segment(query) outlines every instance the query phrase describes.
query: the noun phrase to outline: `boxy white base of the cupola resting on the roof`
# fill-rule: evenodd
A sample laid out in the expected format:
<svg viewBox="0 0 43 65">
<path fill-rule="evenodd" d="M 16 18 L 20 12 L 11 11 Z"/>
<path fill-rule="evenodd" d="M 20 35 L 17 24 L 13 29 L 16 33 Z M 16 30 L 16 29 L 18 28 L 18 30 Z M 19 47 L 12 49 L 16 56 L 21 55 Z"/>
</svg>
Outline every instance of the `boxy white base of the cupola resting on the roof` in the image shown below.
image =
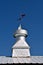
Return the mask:
<svg viewBox="0 0 43 65">
<path fill-rule="evenodd" d="M 28 57 L 30 56 L 29 49 L 13 49 L 12 57 Z"/>
</svg>

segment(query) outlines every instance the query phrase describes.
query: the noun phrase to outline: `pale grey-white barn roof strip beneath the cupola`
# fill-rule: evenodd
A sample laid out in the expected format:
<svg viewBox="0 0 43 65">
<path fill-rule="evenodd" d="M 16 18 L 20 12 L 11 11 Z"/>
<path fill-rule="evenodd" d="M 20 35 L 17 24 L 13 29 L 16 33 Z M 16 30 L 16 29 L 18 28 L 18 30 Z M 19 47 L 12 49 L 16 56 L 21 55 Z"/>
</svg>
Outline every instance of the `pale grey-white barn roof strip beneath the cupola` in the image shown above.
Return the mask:
<svg viewBox="0 0 43 65">
<path fill-rule="evenodd" d="M 5 57 L 0 56 L 0 64 L 6 64 L 6 63 L 43 63 L 43 56 L 30 56 L 25 58 L 20 57 Z"/>
</svg>

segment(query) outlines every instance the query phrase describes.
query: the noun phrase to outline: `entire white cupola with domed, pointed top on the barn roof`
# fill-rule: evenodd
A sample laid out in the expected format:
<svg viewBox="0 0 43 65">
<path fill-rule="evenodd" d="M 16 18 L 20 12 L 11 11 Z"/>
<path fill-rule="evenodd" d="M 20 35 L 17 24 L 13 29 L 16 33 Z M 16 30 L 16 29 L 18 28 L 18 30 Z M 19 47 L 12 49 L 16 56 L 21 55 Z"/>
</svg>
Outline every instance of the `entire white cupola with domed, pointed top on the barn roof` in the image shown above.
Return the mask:
<svg viewBox="0 0 43 65">
<path fill-rule="evenodd" d="M 21 25 L 18 27 L 18 30 L 14 33 L 14 38 L 16 38 L 16 43 L 12 47 L 12 57 L 29 57 L 30 56 L 30 47 L 27 44 L 25 37 L 28 33 L 26 30 L 21 28 Z"/>
</svg>

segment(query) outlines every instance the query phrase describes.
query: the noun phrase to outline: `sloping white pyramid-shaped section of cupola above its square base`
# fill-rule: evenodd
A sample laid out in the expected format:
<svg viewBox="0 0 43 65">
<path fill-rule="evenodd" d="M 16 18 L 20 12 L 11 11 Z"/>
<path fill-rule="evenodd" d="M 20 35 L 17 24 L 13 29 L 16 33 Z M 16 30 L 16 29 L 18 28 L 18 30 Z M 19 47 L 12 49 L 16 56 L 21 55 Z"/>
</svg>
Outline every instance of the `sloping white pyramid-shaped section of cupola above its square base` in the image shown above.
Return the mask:
<svg viewBox="0 0 43 65">
<path fill-rule="evenodd" d="M 22 43 L 21 43 L 21 42 L 22 42 Z M 23 49 L 23 48 L 25 48 L 25 49 L 28 49 L 28 48 L 30 48 L 30 46 L 27 44 L 26 41 L 24 41 L 24 40 L 19 40 L 19 41 L 17 41 L 17 42 L 13 45 L 12 48 L 16 48 L 16 49 Z"/>
</svg>

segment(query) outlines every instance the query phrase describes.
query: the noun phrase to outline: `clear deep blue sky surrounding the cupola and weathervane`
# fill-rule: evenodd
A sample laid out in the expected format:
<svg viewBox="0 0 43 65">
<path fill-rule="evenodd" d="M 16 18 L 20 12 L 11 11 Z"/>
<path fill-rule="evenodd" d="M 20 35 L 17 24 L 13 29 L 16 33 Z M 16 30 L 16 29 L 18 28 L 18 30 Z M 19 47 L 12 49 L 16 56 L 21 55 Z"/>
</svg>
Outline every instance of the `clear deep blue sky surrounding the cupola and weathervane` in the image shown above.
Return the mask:
<svg viewBox="0 0 43 65">
<path fill-rule="evenodd" d="M 21 13 L 26 16 L 17 21 Z M 43 0 L 0 0 L 0 56 L 11 56 L 13 33 L 21 23 L 28 31 L 27 43 L 33 56 L 43 55 Z"/>
</svg>

